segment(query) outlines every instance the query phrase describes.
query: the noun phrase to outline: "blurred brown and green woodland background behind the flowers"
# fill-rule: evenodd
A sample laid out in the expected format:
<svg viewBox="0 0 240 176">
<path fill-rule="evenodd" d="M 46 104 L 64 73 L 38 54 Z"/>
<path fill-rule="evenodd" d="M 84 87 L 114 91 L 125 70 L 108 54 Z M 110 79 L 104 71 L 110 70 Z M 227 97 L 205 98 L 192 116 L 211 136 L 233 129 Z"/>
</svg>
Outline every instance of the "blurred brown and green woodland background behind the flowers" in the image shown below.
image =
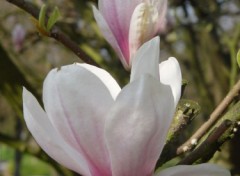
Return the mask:
<svg viewBox="0 0 240 176">
<path fill-rule="evenodd" d="M 129 79 L 102 37 L 91 5 L 97 0 L 28 0 L 37 7 L 58 6 L 57 26 L 121 86 Z M 240 48 L 239 0 L 169 0 L 167 25 L 161 36 L 161 60 L 174 56 L 187 80 L 184 98 L 201 106 L 185 137 L 204 122 L 239 79 L 236 54 Z M 54 67 L 81 62 L 69 49 L 38 33 L 31 16 L 0 1 L 0 176 L 77 175 L 51 160 L 26 129 L 22 86 L 41 102 L 42 83 Z M 183 139 L 184 140 L 184 139 Z M 184 141 L 183 141 L 184 142 Z M 240 176 L 240 134 L 224 144 L 211 162 Z"/>
</svg>

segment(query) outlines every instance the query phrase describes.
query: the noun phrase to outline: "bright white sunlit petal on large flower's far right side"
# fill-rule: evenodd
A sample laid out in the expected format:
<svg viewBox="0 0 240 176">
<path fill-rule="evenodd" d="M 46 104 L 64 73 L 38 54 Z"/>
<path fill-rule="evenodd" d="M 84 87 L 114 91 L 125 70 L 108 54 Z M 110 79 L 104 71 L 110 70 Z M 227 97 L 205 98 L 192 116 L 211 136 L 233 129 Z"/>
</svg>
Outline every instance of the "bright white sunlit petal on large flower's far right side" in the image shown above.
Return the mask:
<svg viewBox="0 0 240 176">
<path fill-rule="evenodd" d="M 159 64 L 160 81 L 165 85 L 169 85 L 174 96 L 175 106 L 181 96 L 182 73 L 180 65 L 174 57 Z"/>
</svg>

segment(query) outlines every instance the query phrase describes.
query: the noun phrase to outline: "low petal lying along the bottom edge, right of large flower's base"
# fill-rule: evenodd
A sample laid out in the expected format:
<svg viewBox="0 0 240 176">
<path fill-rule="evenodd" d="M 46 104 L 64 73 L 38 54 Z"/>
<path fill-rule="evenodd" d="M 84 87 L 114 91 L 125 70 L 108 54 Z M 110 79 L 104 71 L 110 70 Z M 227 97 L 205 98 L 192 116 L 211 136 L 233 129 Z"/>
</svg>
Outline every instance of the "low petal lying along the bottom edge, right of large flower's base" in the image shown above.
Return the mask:
<svg viewBox="0 0 240 176">
<path fill-rule="evenodd" d="M 230 172 L 214 164 L 174 166 L 160 171 L 155 176 L 231 176 Z"/>
</svg>

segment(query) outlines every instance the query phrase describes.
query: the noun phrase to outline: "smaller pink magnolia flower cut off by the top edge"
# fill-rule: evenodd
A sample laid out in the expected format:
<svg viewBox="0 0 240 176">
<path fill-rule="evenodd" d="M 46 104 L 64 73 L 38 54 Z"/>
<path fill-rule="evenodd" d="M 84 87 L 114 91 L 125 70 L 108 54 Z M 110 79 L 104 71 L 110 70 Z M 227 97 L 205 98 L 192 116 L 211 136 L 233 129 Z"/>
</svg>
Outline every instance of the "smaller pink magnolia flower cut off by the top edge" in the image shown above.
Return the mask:
<svg viewBox="0 0 240 176">
<path fill-rule="evenodd" d="M 163 28 L 167 0 L 99 0 L 94 17 L 104 37 L 130 69 L 137 49 Z"/>
</svg>

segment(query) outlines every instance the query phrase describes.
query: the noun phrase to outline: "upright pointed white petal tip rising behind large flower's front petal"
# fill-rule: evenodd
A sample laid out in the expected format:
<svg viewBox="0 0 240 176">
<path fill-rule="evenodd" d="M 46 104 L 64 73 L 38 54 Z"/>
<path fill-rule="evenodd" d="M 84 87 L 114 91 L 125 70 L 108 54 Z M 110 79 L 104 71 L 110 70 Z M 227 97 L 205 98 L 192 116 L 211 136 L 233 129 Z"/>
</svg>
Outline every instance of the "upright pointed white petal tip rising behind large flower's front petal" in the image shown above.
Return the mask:
<svg viewBox="0 0 240 176">
<path fill-rule="evenodd" d="M 136 53 L 132 60 L 131 82 L 144 74 L 150 74 L 159 79 L 159 46 L 160 39 L 155 37 L 145 43 Z"/>
</svg>

